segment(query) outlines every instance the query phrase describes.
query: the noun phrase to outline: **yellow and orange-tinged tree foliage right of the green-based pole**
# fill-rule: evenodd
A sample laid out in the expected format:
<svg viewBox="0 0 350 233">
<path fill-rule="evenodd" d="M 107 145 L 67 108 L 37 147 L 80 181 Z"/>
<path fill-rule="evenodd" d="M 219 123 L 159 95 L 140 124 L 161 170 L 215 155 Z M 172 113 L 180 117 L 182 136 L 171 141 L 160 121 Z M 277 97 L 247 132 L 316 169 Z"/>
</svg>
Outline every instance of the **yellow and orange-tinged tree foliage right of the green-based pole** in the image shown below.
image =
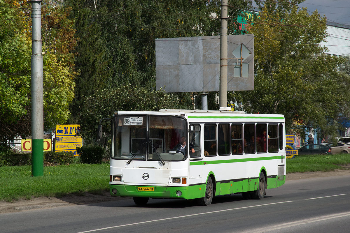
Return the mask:
<svg viewBox="0 0 350 233">
<path fill-rule="evenodd" d="M 75 21 L 69 17 L 71 8 L 59 1 L 42 3 L 44 54 L 44 129 L 64 124 L 71 115 L 69 105 L 75 93 L 78 72 L 74 64 L 76 47 Z"/>
</svg>

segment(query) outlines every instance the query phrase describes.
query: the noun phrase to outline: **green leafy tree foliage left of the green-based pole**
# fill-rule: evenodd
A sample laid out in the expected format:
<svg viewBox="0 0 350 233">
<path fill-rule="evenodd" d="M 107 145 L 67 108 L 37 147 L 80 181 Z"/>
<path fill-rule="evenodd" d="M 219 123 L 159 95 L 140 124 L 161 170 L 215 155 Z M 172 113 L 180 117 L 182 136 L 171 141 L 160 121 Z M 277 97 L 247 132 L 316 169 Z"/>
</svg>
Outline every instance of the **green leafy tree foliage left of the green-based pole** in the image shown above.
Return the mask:
<svg viewBox="0 0 350 233">
<path fill-rule="evenodd" d="M 28 134 L 30 112 L 29 21 L 13 1 L 0 0 L 0 140 Z"/>
</svg>

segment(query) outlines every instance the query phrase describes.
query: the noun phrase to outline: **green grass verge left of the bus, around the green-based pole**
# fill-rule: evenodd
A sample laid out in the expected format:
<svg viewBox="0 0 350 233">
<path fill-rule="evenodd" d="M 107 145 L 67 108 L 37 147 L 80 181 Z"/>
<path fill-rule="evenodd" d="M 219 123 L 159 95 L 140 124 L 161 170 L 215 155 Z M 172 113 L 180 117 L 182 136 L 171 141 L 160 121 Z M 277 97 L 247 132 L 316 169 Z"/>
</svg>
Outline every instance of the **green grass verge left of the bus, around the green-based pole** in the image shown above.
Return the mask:
<svg viewBox="0 0 350 233">
<path fill-rule="evenodd" d="M 109 163 L 49 166 L 36 177 L 31 176 L 31 166 L 0 167 L 0 200 L 8 202 L 102 190 L 109 190 Z"/>
</svg>

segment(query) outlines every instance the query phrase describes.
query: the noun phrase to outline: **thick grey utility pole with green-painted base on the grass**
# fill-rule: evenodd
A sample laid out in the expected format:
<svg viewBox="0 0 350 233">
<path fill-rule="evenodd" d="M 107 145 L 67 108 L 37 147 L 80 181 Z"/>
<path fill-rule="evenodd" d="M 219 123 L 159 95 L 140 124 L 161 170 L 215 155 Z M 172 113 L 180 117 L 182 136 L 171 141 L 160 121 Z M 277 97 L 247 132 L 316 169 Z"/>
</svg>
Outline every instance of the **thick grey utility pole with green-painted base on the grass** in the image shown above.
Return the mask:
<svg viewBox="0 0 350 233">
<path fill-rule="evenodd" d="M 44 175 L 44 94 L 41 53 L 41 0 L 31 0 L 31 175 Z"/>
</svg>

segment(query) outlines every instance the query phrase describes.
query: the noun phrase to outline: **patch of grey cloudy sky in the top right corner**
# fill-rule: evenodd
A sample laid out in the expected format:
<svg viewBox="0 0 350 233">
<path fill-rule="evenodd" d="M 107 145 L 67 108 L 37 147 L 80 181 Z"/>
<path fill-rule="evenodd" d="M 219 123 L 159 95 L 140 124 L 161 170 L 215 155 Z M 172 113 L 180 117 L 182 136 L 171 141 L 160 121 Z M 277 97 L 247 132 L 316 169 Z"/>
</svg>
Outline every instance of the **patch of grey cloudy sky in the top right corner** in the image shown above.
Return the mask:
<svg viewBox="0 0 350 233">
<path fill-rule="evenodd" d="M 350 0 L 305 0 L 299 7 L 307 7 L 309 13 L 317 9 L 330 22 L 350 25 Z"/>
</svg>

